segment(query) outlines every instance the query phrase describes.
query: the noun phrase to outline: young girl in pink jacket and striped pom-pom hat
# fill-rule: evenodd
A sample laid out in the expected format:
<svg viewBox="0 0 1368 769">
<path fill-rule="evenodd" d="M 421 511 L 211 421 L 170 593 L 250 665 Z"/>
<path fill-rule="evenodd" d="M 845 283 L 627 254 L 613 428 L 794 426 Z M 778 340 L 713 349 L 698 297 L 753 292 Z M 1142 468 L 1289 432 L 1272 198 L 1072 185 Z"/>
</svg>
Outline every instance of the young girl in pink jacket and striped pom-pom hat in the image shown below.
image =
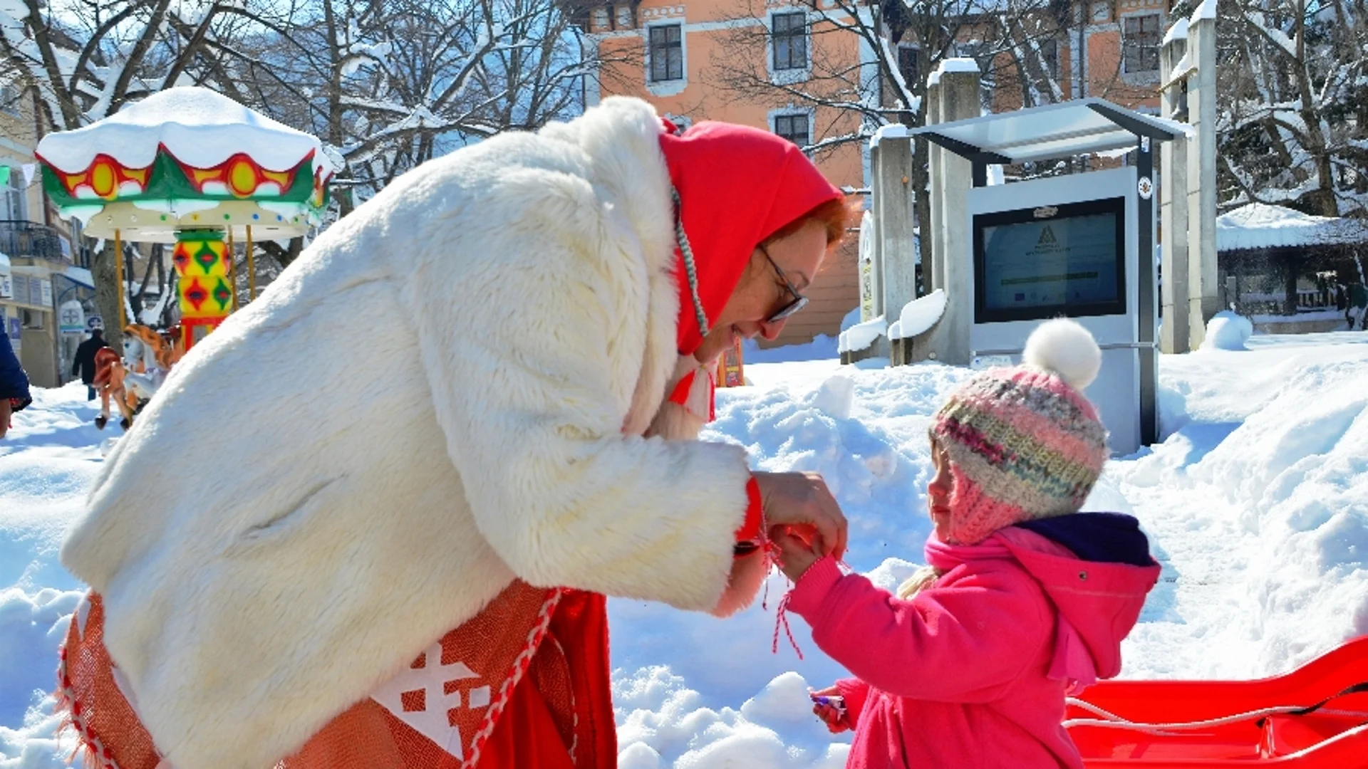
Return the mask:
<svg viewBox="0 0 1368 769">
<path fill-rule="evenodd" d="M 813 692 L 848 769 L 1068 766 L 1064 695 L 1120 670 L 1159 579 L 1135 519 L 1079 513 L 1107 460 L 1082 395 L 1092 335 L 1051 320 L 1025 363 L 963 384 L 930 428 L 928 569 L 897 595 L 781 535 L 788 610 L 856 677 Z"/>
</svg>

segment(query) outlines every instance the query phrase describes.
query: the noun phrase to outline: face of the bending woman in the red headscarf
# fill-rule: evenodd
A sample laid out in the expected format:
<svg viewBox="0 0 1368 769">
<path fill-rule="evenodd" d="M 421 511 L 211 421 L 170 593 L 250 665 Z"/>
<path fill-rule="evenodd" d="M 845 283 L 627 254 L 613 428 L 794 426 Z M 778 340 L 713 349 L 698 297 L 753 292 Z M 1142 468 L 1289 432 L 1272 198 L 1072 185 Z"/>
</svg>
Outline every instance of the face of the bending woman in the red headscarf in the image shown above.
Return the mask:
<svg viewBox="0 0 1368 769">
<path fill-rule="evenodd" d="M 774 265 L 793 282 L 793 287 L 804 291 L 826 257 L 826 223 L 810 219 L 796 231 L 766 244 L 765 250 L 774 260 Z M 717 316 L 713 330 L 703 337 L 703 345 L 694 357 L 702 363 L 714 361 L 736 343 L 737 337 L 746 339 L 778 337 L 788 319 L 776 323 L 767 323 L 766 319 L 793 298 L 784 278 L 780 278 L 778 271 L 765 259 L 765 253 L 757 248 L 751 252 L 751 260 L 741 272 L 732 298 Z"/>
</svg>

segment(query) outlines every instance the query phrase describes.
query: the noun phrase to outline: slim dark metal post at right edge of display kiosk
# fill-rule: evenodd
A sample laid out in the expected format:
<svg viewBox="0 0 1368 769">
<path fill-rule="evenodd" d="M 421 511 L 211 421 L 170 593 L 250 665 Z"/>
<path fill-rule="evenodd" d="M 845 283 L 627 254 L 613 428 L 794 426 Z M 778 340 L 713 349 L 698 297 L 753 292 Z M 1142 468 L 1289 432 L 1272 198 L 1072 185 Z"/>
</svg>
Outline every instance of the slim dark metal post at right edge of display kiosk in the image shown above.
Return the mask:
<svg viewBox="0 0 1368 769">
<path fill-rule="evenodd" d="M 1135 171 L 1140 177 L 1137 194 L 1137 261 L 1140 263 L 1140 328 L 1135 337 L 1140 354 L 1140 443 L 1149 446 L 1159 439 L 1159 367 L 1155 349 L 1155 155 L 1149 137 L 1140 137 L 1135 152 Z"/>
</svg>

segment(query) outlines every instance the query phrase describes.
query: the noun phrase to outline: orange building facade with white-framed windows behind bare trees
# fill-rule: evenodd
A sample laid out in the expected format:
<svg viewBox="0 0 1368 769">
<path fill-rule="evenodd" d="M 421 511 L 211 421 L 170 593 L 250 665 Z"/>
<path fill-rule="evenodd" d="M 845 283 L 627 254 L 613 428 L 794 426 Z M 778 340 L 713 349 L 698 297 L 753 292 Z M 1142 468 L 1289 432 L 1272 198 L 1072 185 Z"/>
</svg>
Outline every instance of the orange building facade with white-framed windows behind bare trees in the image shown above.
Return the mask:
<svg viewBox="0 0 1368 769">
<path fill-rule="evenodd" d="M 895 0 L 896 1 L 896 0 Z M 865 25 L 888 41 L 897 78 L 925 93 L 933 60 L 973 57 L 984 71 L 984 104 L 995 112 L 1023 105 L 1100 96 L 1142 112 L 1159 111 L 1159 45 L 1171 0 L 1041 0 L 1010 23 L 981 14 L 953 19 L 948 51 L 926 53 L 915 19 L 891 3 L 848 0 L 639 0 L 572 3 L 579 23 L 605 64 L 587 94 L 646 99 L 676 123 L 728 120 L 770 130 L 806 146 L 826 177 L 850 190 L 867 190 L 867 141 L 833 141 L 860 133 L 850 108 L 814 105 L 818 78 L 843 68 L 863 93 L 830 101 L 896 101 L 897 89 L 873 68 L 876 53 L 860 34 L 837 25 Z M 850 11 L 859 14 L 851 16 Z M 900 15 L 902 14 L 902 15 Z M 907 12 L 910 14 L 910 11 Z M 899 25 L 903 25 L 900 29 Z M 1029 33 L 1025 30 L 1030 30 Z M 1078 56 L 1083 51 L 1086 55 Z M 739 62 L 739 59 L 744 62 Z M 748 82 L 774 88 L 747 88 Z M 874 73 L 870 77 L 869 73 Z M 791 86 L 791 94 L 785 94 Z M 819 90 L 819 89 L 817 89 Z M 851 89 L 847 89 L 851 90 Z M 915 108 L 912 109 L 917 111 Z M 919 122 L 921 116 L 912 119 Z M 865 133 L 870 126 L 865 126 Z M 1104 161 L 1105 163 L 1105 161 Z M 854 238 L 834 255 L 814 285 L 810 309 L 795 316 L 777 343 L 834 335 L 859 304 Z"/>
</svg>

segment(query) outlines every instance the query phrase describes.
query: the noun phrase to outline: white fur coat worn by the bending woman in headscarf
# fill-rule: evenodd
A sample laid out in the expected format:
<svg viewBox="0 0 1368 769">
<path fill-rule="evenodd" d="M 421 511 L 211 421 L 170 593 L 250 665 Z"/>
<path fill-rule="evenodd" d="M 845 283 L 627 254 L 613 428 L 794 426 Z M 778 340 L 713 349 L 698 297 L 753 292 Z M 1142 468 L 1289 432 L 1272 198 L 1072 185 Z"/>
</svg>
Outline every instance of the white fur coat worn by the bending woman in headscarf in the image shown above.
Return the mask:
<svg viewBox="0 0 1368 769">
<path fill-rule="evenodd" d="M 298 748 L 514 576 L 715 609 L 741 449 L 640 438 L 677 289 L 655 112 L 412 171 L 197 345 L 62 550 L 176 769 Z"/>
</svg>

